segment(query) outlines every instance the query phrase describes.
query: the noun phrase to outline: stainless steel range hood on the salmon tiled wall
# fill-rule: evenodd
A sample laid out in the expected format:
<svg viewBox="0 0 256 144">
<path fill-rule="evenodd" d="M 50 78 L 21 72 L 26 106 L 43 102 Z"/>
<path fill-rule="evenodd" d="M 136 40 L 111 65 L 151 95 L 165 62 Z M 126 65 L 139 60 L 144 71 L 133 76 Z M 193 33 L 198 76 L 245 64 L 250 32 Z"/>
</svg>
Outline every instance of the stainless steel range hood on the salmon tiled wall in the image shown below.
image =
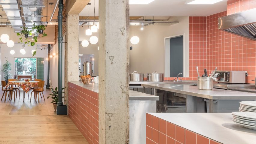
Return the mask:
<svg viewBox="0 0 256 144">
<path fill-rule="evenodd" d="M 218 28 L 256 41 L 256 8 L 218 18 Z"/>
</svg>

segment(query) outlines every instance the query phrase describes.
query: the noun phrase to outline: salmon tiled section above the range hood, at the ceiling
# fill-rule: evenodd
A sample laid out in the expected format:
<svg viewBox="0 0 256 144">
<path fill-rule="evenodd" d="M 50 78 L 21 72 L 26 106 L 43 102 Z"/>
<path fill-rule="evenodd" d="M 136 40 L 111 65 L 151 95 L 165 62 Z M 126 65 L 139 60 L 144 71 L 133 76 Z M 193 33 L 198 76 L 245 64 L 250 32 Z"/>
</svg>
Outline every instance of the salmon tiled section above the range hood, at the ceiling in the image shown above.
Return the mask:
<svg viewBox="0 0 256 144">
<path fill-rule="evenodd" d="M 256 0 L 228 0 L 227 15 L 256 7 Z"/>
</svg>

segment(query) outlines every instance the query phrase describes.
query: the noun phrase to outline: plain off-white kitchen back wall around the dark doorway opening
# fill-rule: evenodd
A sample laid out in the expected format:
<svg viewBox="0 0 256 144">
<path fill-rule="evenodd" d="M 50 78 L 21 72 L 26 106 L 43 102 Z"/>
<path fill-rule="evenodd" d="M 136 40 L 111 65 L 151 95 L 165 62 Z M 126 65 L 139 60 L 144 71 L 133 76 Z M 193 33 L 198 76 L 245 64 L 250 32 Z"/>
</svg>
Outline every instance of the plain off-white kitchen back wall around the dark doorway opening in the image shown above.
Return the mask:
<svg viewBox="0 0 256 144">
<path fill-rule="evenodd" d="M 165 72 L 165 47 L 164 38 L 174 35 L 184 34 L 184 52 L 187 53 L 184 63 L 186 65 L 188 75 L 189 70 L 189 17 L 171 17 L 170 21 L 178 21 L 179 23 L 171 26 L 147 26 L 143 31 L 140 26 L 136 26 L 136 36 L 140 38 L 139 44 L 133 46 L 130 50 L 130 73 L 138 71 L 138 73 L 158 73 Z M 134 36 L 134 26 L 130 26 L 130 38 Z"/>
</svg>

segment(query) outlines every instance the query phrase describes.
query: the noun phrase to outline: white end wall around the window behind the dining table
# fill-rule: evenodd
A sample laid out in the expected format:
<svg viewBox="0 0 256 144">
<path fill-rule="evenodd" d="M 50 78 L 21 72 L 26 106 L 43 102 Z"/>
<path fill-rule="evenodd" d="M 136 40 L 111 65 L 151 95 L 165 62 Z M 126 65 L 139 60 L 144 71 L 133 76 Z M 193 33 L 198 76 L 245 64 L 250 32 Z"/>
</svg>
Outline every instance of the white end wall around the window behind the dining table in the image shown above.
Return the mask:
<svg viewBox="0 0 256 144">
<path fill-rule="evenodd" d="M 9 48 L 6 44 L 0 44 L 0 49 L 1 49 L 1 56 L 0 56 L 1 70 L 2 70 L 3 64 L 5 63 L 5 57 L 7 57 L 8 61 L 12 65 L 11 74 L 14 75 L 14 67 L 15 67 L 14 59 L 15 58 L 33 58 L 31 51 L 33 49 L 35 49 L 35 46 L 25 45 L 25 48 L 24 48 L 26 51 L 25 55 L 22 55 L 20 53 L 21 44 L 14 44 L 14 46 L 12 48 Z M 10 50 L 14 50 L 15 54 L 11 55 Z M 48 65 L 48 63 L 47 63 L 47 60 L 45 59 L 45 58 L 47 58 L 47 53 L 48 53 L 47 49 L 43 49 L 43 50 L 38 49 L 36 55 L 34 56 L 34 58 L 44 58 L 44 81 L 47 80 L 47 65 Z M 3 72 L 1 71 L 1 79 L 2 80 L 4 79 L 3 76 L 4 76 Z"/>
</svg>

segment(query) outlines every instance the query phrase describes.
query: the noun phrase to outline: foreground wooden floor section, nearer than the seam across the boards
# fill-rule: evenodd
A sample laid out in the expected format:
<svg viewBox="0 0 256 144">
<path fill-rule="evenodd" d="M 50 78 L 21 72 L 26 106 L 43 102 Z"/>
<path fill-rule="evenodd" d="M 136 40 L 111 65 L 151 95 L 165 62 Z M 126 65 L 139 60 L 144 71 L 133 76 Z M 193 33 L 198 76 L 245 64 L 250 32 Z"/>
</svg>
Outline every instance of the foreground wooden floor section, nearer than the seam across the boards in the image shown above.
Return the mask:
<svg viewBox="0 0 256 144">
<path fill-rule="evenodd" d="M 0 116 L 0 144 L 89 144 L 69 116 Z"/>
</svg>

